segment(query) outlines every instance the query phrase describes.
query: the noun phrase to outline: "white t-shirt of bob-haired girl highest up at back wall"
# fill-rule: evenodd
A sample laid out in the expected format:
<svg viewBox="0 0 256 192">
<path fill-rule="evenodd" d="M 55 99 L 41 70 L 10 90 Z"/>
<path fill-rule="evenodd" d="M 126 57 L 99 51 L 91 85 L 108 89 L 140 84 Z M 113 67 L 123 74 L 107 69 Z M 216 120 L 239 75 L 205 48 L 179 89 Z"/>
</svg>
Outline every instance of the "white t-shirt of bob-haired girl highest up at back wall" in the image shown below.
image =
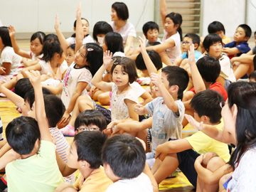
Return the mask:
<svg viewBox="0 0 256 192">
<path fill-rule="evenodd" d="M 111 21 L 109 24 L 112 26 L 114 32 L 117 32 L 122 36 L 124 46 L 128 36 L 133 36 L 134 38 L 136 37 L 136 30 L 132 23 L 127 22 L 124 26 L 122 26 L 122 28 L 119 28 L 118 30 L 114 25 L 114 21 Z"/>
</svg>

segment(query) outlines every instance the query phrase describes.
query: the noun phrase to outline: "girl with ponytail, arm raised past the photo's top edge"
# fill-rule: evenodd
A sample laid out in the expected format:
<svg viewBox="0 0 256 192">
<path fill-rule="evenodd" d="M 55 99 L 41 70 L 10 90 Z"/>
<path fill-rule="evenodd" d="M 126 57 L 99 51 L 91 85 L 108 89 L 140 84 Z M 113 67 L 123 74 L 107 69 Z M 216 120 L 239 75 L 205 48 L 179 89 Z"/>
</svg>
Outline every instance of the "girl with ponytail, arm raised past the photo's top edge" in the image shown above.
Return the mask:
<svg viewBox="0 0 256 192">
<path fill-rule="evenodd" d="M 181 55 L 181 41 L 182 41 L 182 16 L 181 14 L 171 12 L 166 14 L 166 1 L 160 1 L 160 13 L 164 26 L 164 38 L 162 43 L 156 46 L 150 46 L 146 49 L 156 50 L 161 53 L 161 59 L 166 65 L 172 65 L 174 60 Z M 165 54 L 166 53 L 166 54 Z M 168 56 L 168 57 L 167 57 Z"/>
</svg>

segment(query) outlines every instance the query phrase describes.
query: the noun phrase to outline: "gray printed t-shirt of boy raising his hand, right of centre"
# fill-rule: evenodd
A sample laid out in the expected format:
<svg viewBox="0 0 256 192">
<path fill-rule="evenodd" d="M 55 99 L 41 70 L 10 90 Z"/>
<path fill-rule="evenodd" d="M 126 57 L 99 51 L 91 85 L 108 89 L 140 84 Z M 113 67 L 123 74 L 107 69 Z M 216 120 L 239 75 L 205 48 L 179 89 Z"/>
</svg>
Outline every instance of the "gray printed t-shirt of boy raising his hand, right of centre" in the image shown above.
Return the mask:
<svg viewBox="0 0 256 192">
<path fill-rule="evenodd" d="M 175 101 L 178 105 L 179 116 L 169 110 L 163 102 L 163 97 L 157 97 L 146 104 L 146 110 L 149 114 L 153 114 L 151 136 L 152 152 L 154 153 L 156 152 L 156 146 L 168 142 L 169 138 L 181 139 L 181 123 L 185 113 L 183 102 L 181 102 L 181 100 Z"/>
</svg>

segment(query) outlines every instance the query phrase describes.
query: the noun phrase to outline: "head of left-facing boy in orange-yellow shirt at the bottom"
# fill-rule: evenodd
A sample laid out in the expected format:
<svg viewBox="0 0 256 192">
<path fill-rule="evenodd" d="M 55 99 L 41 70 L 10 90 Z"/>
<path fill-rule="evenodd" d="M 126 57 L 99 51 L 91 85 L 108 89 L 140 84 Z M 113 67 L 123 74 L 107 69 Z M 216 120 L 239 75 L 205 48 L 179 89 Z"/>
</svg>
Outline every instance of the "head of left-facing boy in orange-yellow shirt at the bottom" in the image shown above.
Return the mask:
<svg viewBox="0 0 256 192">
<path fill-rule="evenodd" d="M 68 166 L 73 169 L 98 169 L 102 164 L 102 146 L 107 135 L 101 132 L 76 134 L 68 154 Z"/>
</svg>

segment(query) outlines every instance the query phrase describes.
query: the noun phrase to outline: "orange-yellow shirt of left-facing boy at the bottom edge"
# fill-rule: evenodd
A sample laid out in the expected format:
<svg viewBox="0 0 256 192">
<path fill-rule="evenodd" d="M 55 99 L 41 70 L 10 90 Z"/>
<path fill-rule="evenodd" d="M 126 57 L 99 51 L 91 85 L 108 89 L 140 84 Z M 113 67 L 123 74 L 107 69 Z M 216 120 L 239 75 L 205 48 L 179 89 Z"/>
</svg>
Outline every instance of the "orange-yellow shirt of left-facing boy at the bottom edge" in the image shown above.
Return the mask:
<svg viewBox="0 0 256 192">
<path fill-rule="evenodd" d="M 102 166 L 99 169 L 92 171 L 92 174 L 86 179 L 79 174 L 77 181 L 75 181 L 74 186 L 81 192 L 104 192 L 107 190 L 113 182 L 105 174 Z"/>
</svg>

